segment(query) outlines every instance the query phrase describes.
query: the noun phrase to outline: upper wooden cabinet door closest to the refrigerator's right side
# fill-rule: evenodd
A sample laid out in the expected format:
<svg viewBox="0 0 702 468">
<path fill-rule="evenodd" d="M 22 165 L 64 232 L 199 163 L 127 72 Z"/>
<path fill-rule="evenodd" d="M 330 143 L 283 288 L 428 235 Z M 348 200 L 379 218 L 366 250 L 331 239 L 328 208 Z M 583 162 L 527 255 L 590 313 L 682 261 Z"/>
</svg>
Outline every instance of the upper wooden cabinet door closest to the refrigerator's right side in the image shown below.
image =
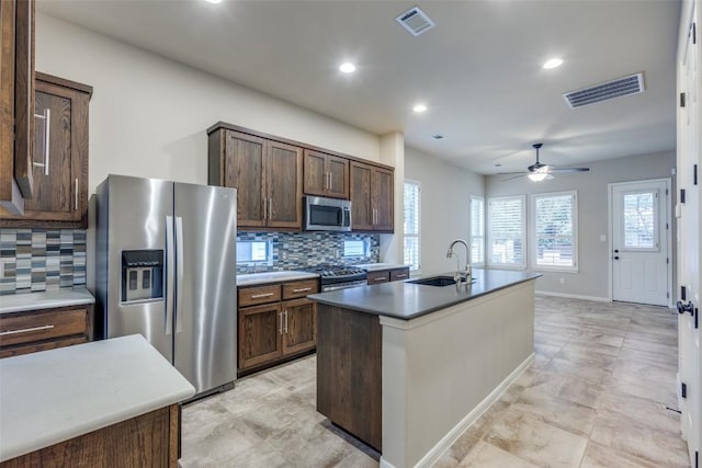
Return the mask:
<svg viewBox="0 0 702 468">
<path fill-rule="evenodd" d="M 265 140 L 237 132 L 225 133 L 222 185 L 237 189 L 239 227 L 265 226 L 263 158 Z M 212 183 L 212 181 L 210 182 Z"/>
</svg>

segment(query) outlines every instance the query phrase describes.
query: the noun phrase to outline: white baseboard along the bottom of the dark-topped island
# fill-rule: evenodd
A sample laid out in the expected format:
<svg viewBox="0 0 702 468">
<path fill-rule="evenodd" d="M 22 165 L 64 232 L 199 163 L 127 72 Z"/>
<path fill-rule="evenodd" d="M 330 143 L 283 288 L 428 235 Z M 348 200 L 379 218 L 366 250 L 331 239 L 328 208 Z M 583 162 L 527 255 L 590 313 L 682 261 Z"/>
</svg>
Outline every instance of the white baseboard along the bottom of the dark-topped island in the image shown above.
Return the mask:
<svg viewBox="0 0 702 468">
<path fill-rule="evenodd" d="M 535 353 L 526 357 L 514 370 L 508 375 L 505 380 L 498 385 L 483 401 L 480 401 L 468 414 L 463 418 L 441 441 L 437 443 L 427 454 L 417 461 L 415 468 L 430 468 L 439 458 L 453 445 L 461 435 L 487 411 L 505 393 L 509 386 L 519 378 L 524 370 L 532 365 Z M 396 468 L 393 464 L 381 456 L 380 468 Z"/>
</svg>

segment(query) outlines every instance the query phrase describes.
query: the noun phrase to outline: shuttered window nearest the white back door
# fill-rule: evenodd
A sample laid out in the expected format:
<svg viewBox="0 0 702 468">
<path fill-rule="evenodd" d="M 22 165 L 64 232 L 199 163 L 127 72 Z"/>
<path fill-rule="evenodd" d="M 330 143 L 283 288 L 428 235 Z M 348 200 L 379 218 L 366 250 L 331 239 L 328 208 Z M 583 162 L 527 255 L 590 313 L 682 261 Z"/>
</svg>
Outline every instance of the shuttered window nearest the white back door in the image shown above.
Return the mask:
<svg viewBox="0 0 702 468">
<path fill-rule="evenodd" d="M 577 270 L 576 192 L 533 195 L 536 270 Z"/>
</svg>

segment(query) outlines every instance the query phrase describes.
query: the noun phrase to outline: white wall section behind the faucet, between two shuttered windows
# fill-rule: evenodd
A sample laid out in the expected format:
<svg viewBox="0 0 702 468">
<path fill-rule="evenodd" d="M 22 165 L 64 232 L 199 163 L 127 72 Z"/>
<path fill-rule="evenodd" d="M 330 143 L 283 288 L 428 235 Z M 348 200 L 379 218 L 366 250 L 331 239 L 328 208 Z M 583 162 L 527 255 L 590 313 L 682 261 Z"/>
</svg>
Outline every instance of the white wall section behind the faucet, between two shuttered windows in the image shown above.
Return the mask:
<svg viewBox="0 0 702 468">
<path fill-rule="evenodd" d="M 483 175 L 406 147 L 405 179 L 421 184 L 421 273 L 455 271 L 455 256 L 446 259 L 446 250 L 454 239 L 468 241 L 468 196 L 484 195 Z M 461 249 L 457 253 L 463 267 Z"/>
</svg>

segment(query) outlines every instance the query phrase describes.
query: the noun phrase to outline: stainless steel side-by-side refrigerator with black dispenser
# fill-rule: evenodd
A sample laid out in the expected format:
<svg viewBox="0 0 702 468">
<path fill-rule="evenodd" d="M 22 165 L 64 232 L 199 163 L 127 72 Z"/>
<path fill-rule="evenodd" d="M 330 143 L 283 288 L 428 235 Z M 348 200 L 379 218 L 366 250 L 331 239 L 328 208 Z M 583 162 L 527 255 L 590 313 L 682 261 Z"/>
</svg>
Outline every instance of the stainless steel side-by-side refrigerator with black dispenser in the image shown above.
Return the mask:
<svg viewBox="0 0 702 468">
<path fill-rule="evenodd" d="M 197 395 L 237 374 L 236 201 L 234 189 L 124 175 L 97 190 L 95 333 L 143 334 Z"/>
</svg>

